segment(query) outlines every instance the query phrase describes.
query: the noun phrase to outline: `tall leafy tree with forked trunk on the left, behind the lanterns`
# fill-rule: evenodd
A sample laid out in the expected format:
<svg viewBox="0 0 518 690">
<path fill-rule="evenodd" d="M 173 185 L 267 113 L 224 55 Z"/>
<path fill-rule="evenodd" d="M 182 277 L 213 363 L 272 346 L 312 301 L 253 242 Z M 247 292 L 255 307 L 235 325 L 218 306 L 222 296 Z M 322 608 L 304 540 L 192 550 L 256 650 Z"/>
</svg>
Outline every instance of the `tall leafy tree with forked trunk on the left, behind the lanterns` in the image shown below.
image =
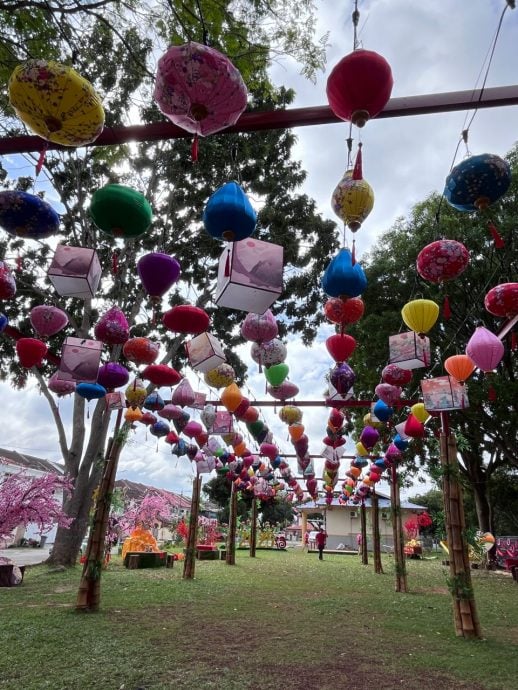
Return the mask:
<svg viewBox="0 0 518 690">
<path fill-rule="evenodd" d="M 156 14 L 143 2 L 130 7 L 119 2 L 102 3 L 102 13 L 101 4 L 95 8 L 93 0 L 87 3 L 88 9 L 85 4 L 84 12 L 76 12 L 79 4 L 67 0 L 20 3 L 19 11 L 14 13 L 6 12 L 0 5 L 4 81 L 12 67 L 27 57 L 72 61 L 102 95 L 108 127 L 126 123 L 129 113 L 132 120 L 154 122 L 162 116 L 152 103 L 153 75 L 148 65 L 153 62 L 157 47 L 165 47 L 170 40 L 203 40 L 210 26 L 207 38 L 229 55 L 249 86 L 250 109 L 284 108 L 292 101 L 292 92 L 274 89 L 267 79 L 266 39 L 271 32 L 264 30 L 263 20 L 276 17 L 281 31 L 284 20 L 280 17 L 287 15 L 276 14 L 277 10 L 291 11 L 295 4 L 284 6 L 258 0 L 234 5 L 207 0 L 201 3 L 205 21 L 180 2 L 157 2 L 153 5 Z M 297 4 L 298 22 L 304 23 L 311 7 L 309 2 Z M 256 10 L 257 20 L 249 24 L 252 10 Z M 294 46 L 298 39 L 291 35 L 293 28 L 290 27 L 289 39 Z M 286 29 L 284 25 L 288 37 Z M 278 38 L 281 45 L 282 36 L 279 34 Z M 5 110 L 9 112 L 7 106 Z M 4 131 L 13 135 L 22 130 L 19 122 L 8 117 Z M 164 309 L 187 299 L 204 307 L 212 317 L 211 330 L 225 342 L 227 359 L 235 366 L 238 378 L 242 378 L 245 367 L 232 348 L 240 342 L 237 326 L 243 314 L 216 309 L 212 303 L 222 247 L 202 231 L 200 221 L 210 194 L 229 178 L 237 177 L 260 208 L 257 237 L 284 246 L 285 291 L 275 311 L 286 314 L 284 331 L 298 331 L 305 342 L 310 342 L 321 319 L 316 308 L 321 303 L 318 278 L 336 249 L 335 226 L 317 214 L 311 199 L 297 193 L 305 173 L 299 163 L 290 160 L 294 141 L 290 131 L 213 136 L 203 141 L 197 165 L 191 163 L 189 144 L 184 140 L 48 152 L 43 174 L 64 207 L 60 240 L 95 248 L 105 273 L 95 299 L 59 299 L 45 276 L 52 253 L 50 244 L 2 237 L 0 256 L 11 262 L 18 256 L 22 260 L 16 300 L 5 307 L 10 324 L 29 334 L 30 309 L 42 302 L 58 304 L 70 318 L 70 330 L 50 340 L 51 350 L 58 353 L 65 335 L 91 335 L 99 315 L 108 305 L 117 303 L 131 324 L 131 335 L 160 339 L 161 361 L 181 368 L 182 339 L 165 333 L 160 319 L 150 319 L 153 305 L 135 278 L 139 256 L 159 250 L 175 255 L 182 265 L 182 282 L 169 294 Z M 13 178 L 8 168 L 0 168 L 0 179 L 5 188 L 29 190 L 34 184 L 30 176 Z M 91 194 L 111 182 L 139 189 L 153 207 L 152 229 L 139 241 L 121 246 L 119 241 L 103 236 L 89 218 Z M 117 272 L 110 270 L 115 256 Z M 106 359 L 116 360 L 119 356 L 117 348 L 105 354 Z M 0 361 L 0 376 L 15 386 L 24 386 L 27 372 L 17 361 L 13 341 L 4 339 Z M 49 403 L 65 469 L 74 480 L 74 492 L 64 504 L 73 521 L 69 530 L 58 530 L 52 558 L 72 564 L 87 528 L 93 491 L 102 475 L 111 422 L 101 401 L 95 406 L 88 427 L 84 399 L 76 395 L 73 427 L 66 429 L 47 388 L 51 371 L 45 365 L 32 374 Z"/>
</svg>

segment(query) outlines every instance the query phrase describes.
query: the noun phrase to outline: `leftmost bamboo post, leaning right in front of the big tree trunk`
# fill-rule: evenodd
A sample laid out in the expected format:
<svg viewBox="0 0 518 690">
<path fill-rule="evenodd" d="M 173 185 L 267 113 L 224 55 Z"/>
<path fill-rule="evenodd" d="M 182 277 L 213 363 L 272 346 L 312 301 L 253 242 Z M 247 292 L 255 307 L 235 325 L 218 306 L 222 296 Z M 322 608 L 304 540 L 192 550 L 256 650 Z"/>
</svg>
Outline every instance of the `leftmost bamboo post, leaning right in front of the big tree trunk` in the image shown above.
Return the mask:
<svg viewBox="0 0 518 690">
<path fill-rule="evenodd" d="M 113 437 L 108 443 L 106 465 L 99 486 L 93 525 L 90 529 L 88 545 L 86 547 L 85 564 L 77 592 L 76 611 L 98 611 L 101 602 L 101 574 L 105 552 L 106 528 L 110 515 L 117 465 L 124 446 L 124 433 L 120 428 L 121 420 L 122 409 L 117 412 Z"/>
</svg>

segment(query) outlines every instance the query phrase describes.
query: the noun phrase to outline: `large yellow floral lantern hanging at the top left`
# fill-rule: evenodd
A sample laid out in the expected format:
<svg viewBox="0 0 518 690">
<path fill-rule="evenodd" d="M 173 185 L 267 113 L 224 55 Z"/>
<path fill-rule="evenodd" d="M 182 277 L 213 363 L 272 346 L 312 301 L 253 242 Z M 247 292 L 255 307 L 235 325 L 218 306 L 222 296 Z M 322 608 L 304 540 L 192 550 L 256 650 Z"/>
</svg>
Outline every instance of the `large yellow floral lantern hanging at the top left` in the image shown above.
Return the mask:
<svg viewBox="0 0 518 690">
<path fill-rule="evenodd" d="M 85 146 L 104 125 L 99 96 L 72 67 L 53 60 L 28 60 L 9 79 L 9 102 L 38 136 L 63 146 Z"/>
</svg>

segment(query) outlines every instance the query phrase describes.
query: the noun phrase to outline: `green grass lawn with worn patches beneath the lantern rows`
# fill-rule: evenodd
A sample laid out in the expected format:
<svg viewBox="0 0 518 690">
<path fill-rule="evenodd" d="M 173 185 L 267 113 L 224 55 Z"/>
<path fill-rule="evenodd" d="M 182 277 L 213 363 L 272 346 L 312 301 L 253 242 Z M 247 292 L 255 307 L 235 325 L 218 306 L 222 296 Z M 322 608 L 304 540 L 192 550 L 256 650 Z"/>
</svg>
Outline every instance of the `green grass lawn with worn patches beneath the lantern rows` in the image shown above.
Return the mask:
<svg viewBox="0 0 518 690">
<path fill-rule="evenodd" d="M 238 551 L 235 566 L 103 573 L 101 611 L 76 613 L 80 569 L 0 589 L 1 690 L 257 688 L 515 690 L 518 586 L 473 571 L 483 640 L 455 637 L 448 569 L 409 561 L 410 594 L 356 556 Z"/>
</svg>

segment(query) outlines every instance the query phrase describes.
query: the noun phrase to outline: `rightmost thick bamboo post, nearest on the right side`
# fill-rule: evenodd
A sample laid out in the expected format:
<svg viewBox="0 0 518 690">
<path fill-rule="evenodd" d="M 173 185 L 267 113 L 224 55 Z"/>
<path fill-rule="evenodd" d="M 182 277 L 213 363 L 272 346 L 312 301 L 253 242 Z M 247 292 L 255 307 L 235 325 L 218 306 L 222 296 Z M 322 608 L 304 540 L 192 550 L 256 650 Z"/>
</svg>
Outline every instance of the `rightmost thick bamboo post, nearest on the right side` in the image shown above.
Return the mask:
<svg viewBox="0 0 518 690">
<path fill-rule="evenodd" d="M 468 543 L 465 537 L 464 504 L 459 481 L 457 444 L 449 432 L 447 413 L 441 413 L 441 467 L 446 535 L 449 551 L 453 619 L 457 637 L 480 638 L 482 632 L 471 582 Z"/>
</svg>

